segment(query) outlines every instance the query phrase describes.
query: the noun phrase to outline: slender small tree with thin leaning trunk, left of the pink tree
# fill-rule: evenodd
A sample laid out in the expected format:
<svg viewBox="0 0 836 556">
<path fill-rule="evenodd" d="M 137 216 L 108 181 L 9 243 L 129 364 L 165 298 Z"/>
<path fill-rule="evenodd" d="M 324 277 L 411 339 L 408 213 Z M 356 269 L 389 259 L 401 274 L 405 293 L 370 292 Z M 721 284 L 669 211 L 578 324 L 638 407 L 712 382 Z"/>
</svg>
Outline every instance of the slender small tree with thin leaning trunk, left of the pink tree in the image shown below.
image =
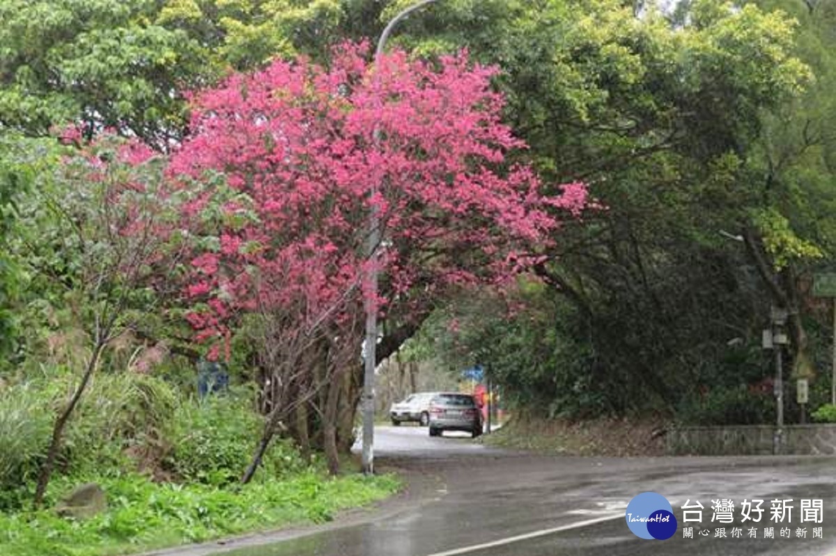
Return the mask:
<svg viewBox="0 0 836 556">
<path fill-rule="evenodd" d="M 80 140 L 77 131 L 65 136 Z M 43 294 L 42 326 L 79 330 L 84 353 L 78 382 L 59 408 L 41 463 L 35 506 L 43 496 L 64 442 L 64 431 L 82 401 L 105 349 L 141 322 L 161 301 L 152 286 L 165 282 L 177 257 L 160 230 L 176 221 L 164 195 L 162 164 L 145 145 L 105 137 L 64 159 L 36 179 L 19 204 L 9 254 Z M 165 255 L 171 255 L 166 257 Z M 161 288 L 156 288 L 161 291 Z M 34 335 L 33 331 L 29 332 Z"/>
</svg>

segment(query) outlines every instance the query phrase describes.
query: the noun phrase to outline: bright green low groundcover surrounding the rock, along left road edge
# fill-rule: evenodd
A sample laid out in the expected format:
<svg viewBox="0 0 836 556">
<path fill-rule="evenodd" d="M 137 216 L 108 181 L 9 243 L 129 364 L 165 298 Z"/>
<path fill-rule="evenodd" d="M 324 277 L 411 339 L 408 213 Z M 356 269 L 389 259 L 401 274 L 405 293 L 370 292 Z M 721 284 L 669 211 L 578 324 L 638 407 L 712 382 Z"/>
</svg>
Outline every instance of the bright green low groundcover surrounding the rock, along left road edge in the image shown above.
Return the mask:
<svg viewBox="0 0 836 556">
<path fill-rule="evenodd" d="M 288 524 L 323 523 L 339 509 L 374 502 L 395 493 L 392 475 L 329 478 L 309 469 L 282 480 L 240 489 L 204 484 L 151 483 L 136 474 L 62 479 L 50 488 L 54 500 L 84 481 L 96 481 L 109 508 L 95 518 L 74 521 L 51 510 L 0 513 L 3 556 L 107 556 L 197 543 Z"/>
</svg>

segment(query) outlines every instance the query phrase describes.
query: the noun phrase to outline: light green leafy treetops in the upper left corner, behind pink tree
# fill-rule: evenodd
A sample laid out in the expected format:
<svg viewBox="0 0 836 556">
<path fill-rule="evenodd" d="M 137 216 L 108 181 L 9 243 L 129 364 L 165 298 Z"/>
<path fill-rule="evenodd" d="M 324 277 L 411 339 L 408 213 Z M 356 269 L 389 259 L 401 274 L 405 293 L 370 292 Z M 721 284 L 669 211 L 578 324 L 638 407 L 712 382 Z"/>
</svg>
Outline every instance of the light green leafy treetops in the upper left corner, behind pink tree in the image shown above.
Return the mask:
<svg viewBox="0 0 836 556">
<path fill-rule="evenodd" d="M 322 55 L 341 18 L 336 0 L 2 0 L 0 132 L 73 121 L 169 149 L 186 128 L 184 92 L 228 68 Z"/>
</svg>

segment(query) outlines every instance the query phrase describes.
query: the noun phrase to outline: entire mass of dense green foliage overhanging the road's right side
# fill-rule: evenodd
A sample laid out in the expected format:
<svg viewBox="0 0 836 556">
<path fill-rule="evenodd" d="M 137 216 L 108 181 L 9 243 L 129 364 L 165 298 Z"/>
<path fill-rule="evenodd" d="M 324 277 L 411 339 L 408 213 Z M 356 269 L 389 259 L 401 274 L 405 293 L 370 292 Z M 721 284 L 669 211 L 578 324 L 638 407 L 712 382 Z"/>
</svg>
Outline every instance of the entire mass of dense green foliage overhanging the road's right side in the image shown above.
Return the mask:
<svg viewBox="0 0 836 556">
<path fill-rule="evenodd" d="M 809 296 L 832 237 L 826 23 L 791 7 L 799 26 L 767 11 L 774 4 L 681 3 L 639 17 L 614 3 L 536 4 L 512 3 L 467 37 L 502 37 L 482 48 L 502 59 L 509 116 L 541 172 L 588 180 L 607 210 L 562 230 L 527 311 L 487 321 L 471 301 L 441 311 L 442 324 L 471 323 L 442 358 L 491 365 L 539 415 L 767 422 L 774 371 L 761 331 L 782 306 L 797 418 L 792 379 L 828 365 L 817 323 L 827 316 Z M 481 13 L 491 4 L 451 7 L 464 21 Z M 443 344 L 439 328 L 426 336 Z"/>
</svg>

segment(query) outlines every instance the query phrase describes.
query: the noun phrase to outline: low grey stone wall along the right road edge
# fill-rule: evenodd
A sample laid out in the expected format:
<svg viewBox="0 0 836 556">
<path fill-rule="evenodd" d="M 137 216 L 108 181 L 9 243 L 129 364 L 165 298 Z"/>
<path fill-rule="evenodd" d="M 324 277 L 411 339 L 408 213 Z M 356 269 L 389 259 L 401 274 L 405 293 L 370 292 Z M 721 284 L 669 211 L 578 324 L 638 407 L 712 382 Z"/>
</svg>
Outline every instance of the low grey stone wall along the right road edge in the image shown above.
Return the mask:
<svg viewBox="0 0 836 556">
<path fill-rule="evenodd" d="M 665 452 L 674 456 L 836 454 L 836 424 L 788 425 L 780 437 L 775 432 L 772 425 L 677 427 L 665 434 Z"/>
</svg>

